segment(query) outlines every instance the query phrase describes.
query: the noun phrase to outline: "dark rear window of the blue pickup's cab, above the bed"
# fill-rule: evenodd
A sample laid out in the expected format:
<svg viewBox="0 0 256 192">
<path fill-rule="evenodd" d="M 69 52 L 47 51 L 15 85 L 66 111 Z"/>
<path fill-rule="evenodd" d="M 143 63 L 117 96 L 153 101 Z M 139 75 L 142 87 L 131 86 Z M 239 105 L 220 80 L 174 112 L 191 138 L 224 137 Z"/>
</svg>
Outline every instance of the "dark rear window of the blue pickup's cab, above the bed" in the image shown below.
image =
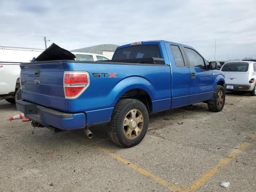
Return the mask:
<svg viewBox="0 0 256 192">
<path fill-rule="evenodd" d="M 116 50 L 112 60 L 135 58 L 162 58 L 158 45 L 140 45 Z"/>
</svg>

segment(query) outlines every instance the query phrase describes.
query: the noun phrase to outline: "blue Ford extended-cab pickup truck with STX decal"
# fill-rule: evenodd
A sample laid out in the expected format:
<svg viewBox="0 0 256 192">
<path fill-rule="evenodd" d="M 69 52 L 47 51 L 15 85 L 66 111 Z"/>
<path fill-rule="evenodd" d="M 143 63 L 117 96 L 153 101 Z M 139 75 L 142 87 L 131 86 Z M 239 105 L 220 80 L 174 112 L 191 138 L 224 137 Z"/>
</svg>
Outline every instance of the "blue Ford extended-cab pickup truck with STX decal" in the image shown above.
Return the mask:
<svg viewBox="0 0 256 192">
<path fill-rule="evenodd" d="M 20 65 L 18 110 L 35 127 L 60 130 L 107 123 L 112 142 L 138 144 L 149 114 L 208 103 L 224 107 L 225 78 L 194 48 L 164 40 L 119 46 L 112 60 L 52 60 Z"/>
</svg>

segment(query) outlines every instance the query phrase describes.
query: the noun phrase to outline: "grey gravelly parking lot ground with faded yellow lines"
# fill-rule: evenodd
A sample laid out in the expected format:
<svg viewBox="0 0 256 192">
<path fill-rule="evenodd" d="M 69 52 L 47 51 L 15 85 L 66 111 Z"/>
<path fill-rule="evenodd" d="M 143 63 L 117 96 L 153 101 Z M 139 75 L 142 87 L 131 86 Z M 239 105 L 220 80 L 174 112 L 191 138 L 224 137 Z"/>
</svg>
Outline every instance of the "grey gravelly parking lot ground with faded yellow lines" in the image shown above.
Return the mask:
<svg viewBox="0 0 256 192">
<path fill-rule="evenodd" d="M 256 97 L 249 94 L 227 93 L 218 113 L 199 103 L 152 114 L 133 148 L 112 144 L 106 126 L 91 128 L 93 139 L 82 130 L 32 134 L 30 122 L 7 120 L 15 114 L 0 101 L 3 192 L 256 191 Z"/>
</svg>

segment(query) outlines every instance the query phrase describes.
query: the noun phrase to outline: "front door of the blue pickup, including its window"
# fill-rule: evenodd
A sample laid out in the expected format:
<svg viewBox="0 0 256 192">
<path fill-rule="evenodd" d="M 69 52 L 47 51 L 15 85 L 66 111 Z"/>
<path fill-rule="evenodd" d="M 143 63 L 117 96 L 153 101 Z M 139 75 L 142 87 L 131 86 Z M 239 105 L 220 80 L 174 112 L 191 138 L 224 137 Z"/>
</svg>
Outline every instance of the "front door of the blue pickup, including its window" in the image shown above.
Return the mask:
<svg viewBox="0 0 256 192">
<path fill-rule="evenodd" d="M 184 47 L 190 70 L 190 98 L 188 104 L 209 100 L 214 87 L 212 70 L 206 70 L 206 61 L 192 48 Z"/>
</svg>

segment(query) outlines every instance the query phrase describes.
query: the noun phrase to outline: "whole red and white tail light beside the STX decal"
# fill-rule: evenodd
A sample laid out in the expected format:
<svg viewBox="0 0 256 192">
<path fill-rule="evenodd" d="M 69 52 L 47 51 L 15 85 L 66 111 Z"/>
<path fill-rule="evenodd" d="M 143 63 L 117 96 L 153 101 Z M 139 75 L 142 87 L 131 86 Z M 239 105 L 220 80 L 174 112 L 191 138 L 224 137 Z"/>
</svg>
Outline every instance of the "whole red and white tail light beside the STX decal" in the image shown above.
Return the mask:
<svg viewBox="0 0 256 192">
<path fill-rule="evenodd" d="M 88 72 L 65 71 L 63 77 L 64 94 L 66 99 L 78 98 L 90 83 Z"/>
</svg>

